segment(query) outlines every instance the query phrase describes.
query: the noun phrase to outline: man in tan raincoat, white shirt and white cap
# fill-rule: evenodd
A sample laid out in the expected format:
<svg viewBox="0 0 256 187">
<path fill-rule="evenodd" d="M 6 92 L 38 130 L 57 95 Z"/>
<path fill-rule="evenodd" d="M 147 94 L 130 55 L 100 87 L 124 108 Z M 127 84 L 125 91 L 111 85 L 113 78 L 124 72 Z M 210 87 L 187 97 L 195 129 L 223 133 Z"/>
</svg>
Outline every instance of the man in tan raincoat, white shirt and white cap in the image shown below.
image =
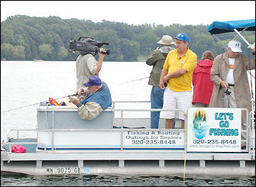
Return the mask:
<svg viewBox="0 0 256 187">
<path fill-rule="evenodd" d="M 209 107 L 248 108 L 251 111 L 251 95 L 248 69 L 255 69 L 255 47 L 252 60 L 241 54 L 241 43 L 228 42 L 228 50 L 215 57 L 211 69 L 213 82 Z"/>
</svg>

